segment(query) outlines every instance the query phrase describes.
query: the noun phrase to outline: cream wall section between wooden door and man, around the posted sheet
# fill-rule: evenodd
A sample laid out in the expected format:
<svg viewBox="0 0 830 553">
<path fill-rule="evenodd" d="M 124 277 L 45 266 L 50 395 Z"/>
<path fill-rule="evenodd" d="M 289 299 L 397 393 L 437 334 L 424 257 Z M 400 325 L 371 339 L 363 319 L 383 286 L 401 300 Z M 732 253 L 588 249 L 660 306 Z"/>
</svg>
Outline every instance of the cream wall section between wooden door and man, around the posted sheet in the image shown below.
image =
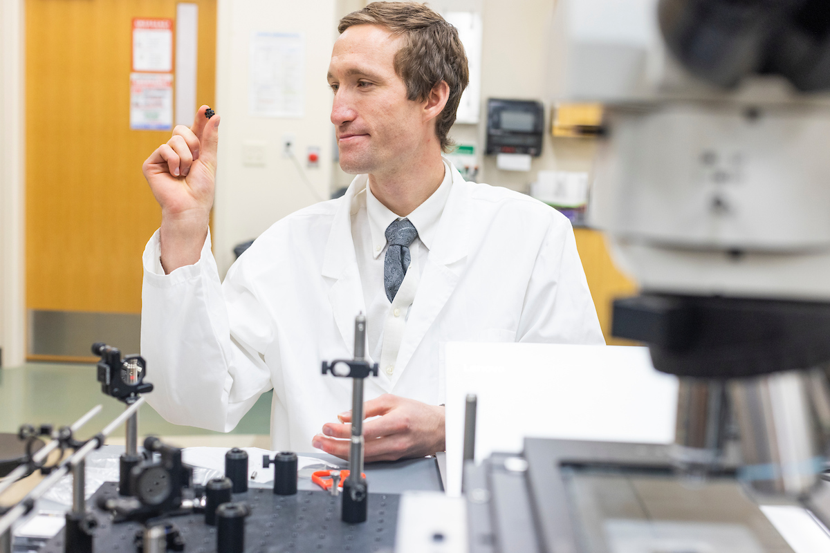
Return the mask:
<svg viewBox="0 0 830 553">
<path fill-rule="evenodd" d="M 217 5 L 217 111 L 219 129 L 217 194 L 213 211 L 213 252 L 220 274 L 233 261 L 233 246 L 256 238 L 274 221 L 328 198 L 334 129 L 329 120 L 331 91 L 325 82 L 335 24 L 334 0 L 219 0 Z M 248 56 L 252 32 L 305 33 L 305 117 L 251 117 L 248 111 Z M 282 137 L 295 137 L 295 155 L 311 192 L 291 159 L 282 156 Z M 244 143 L 265 143 L 265 166 L 242 163 Z M 320 148 L 320 164 L 305 167 L 306 148 Z"/>
</svg>

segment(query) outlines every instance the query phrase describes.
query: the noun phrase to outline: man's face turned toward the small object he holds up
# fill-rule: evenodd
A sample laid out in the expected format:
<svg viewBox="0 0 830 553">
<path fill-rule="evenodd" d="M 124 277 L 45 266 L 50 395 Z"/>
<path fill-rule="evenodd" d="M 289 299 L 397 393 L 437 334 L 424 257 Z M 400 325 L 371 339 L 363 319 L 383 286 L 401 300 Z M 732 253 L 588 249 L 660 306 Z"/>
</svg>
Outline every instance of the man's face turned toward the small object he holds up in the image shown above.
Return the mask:
<svg viewBox="0 0 830 553">
<path fill-rule="evenodd" d="M 407 99 L 406 85 L 395 73 L 400 46 L 399 36 L 376 25 L 349 27 L 334 42 L 331 122 L 345 172 L 394 171 L 417 154 L 428 130 L 422 104 Z"/>
</svg>

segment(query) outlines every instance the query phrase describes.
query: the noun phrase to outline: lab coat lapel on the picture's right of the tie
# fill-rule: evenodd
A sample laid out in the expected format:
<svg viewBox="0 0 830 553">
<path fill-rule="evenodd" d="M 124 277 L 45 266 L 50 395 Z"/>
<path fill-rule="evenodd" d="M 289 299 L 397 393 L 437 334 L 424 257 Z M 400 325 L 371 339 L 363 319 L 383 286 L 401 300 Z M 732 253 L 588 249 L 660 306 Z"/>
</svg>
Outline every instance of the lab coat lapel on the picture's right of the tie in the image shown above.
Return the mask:
<svg viewBox="0 0 830 553">
<path fill-rule="evenodd" d="M 399 370 L 395 371 L 394 381 L 407 368 L 415 350 L 461 278 L 468 250 L 469 205 L 469 187 L 461 173 L 452 167 L 452 191 L 444 206 L 435 243 L 427 255 L 427 266 L 423 269 L 407 327 L 403 332 L 398 360 L 395 362 Z"/>
</svg>

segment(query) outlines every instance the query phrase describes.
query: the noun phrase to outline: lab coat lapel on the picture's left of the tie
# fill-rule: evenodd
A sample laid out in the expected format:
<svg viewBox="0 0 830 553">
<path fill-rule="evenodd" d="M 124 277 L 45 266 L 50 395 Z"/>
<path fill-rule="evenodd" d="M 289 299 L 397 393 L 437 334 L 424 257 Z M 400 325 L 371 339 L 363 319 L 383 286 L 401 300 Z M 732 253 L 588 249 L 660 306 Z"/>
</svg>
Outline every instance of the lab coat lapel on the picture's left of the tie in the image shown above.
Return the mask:
<svg viewBox="0 0 830 553">
<path fill-rule="evenodd" d="M 323 276 L 334 279 L 329 290 L 334 322 L 349 351 L 354 347 L 354 318 L 358 313 L 366 313 L 351 221 L 352 200 L 354 194 L 365 186 L 365 178 L 364 175 L 356 177 L 344 194 L 334 214 L 323 258 Z"/>
</svg>

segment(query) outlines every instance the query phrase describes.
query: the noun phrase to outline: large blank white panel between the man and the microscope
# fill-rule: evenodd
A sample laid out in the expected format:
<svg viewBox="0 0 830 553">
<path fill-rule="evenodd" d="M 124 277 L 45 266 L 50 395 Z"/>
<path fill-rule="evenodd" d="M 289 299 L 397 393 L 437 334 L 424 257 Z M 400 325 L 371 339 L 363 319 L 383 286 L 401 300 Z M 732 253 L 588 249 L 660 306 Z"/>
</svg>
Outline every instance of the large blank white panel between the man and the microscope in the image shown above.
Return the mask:
<svg viewBox="0 0 830 553">
<path fill-rule="evenodd" d="M 448 343 L 447 493 L 461 492 L 466 395 L 478 397 L 476 462 L 525 437 L 668 444 L 677 379 L 647 347 Z"/>
</svg>

